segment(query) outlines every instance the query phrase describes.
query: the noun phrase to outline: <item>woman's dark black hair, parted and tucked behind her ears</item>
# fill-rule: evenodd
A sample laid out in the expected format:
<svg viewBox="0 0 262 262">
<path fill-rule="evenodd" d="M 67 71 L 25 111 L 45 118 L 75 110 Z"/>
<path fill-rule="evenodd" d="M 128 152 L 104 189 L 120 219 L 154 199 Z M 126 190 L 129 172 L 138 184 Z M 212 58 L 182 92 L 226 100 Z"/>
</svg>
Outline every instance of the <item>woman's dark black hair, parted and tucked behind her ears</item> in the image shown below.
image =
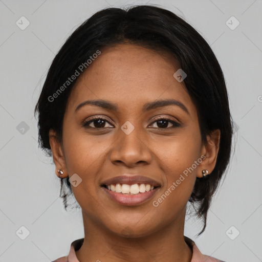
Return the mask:
<svg viewBox="0 0 262 262">
<path fill-rule="evenodd" d="M 222 69 L 206 40 L 184 19 L 166 9 L 140 5 L 126 9 L 106 8 L 85 20 L 65 41 L 55 56 L 35 106 L 38 112 L 38 142 L 52 156 L 49 130 L 62 138 L 62 122 L 69 95 L 76 80 L 68 78 L 79 72 L 79 66 L 95 53 L 120 43 L 133 43 L 149 49 L 168 51 L 174 64 L 186 72 L 184 84 L 197 108 L 201 137 L 212 130 L 221 130 L 220 148 L 214 170 L 208 178 L 197 179 L 189 202 L 206 228 L 207 211 L 212 195 L 228 166 L 233 134 L 228 93 Z M 82 70 L 81 70 L 82 71 Z M 83 70 L 84 72 L 84 70 Z M 66 86 L 64 83 L 68 83 Z M 61 86 L 64 88 L 61 91 Z M 59 91 L 60 89 L 60 91 Z M 59 93 L 58 93 L 59 92 Z M 56 99 L 53 102 L 54 94 Z M 67 194 L 61 195 L 63 185 L 73 194 L 69 177 L 61 179 L 60 197 L 67 208 Z M 64 191 L 65 192 L 65 191 Z"/>
</svg>

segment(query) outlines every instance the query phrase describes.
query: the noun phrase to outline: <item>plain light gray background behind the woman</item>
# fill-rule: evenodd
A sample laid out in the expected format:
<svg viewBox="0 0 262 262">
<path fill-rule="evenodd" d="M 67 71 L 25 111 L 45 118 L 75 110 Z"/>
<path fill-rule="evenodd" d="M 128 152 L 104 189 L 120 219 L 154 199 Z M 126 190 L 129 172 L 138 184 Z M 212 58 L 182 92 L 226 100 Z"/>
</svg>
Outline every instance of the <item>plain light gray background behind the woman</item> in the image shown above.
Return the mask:
<svg viewBox="0 0 262 262">
<path fill-rule="evenodd" d="M 96 11 L 135 3 L 159 4 L 202 34 L 224 71 L 236 123 L 235 154 L 206 231 L 195 237 L 201 224 L 191 218 L 185 235 L 227 262 L 262 261 L 262 1 L 0 0 L 0 262 L 54 260 L 83 237 L 81 213 L 63 210 L 53 161 L 38 149 L 33 109 L 65 39 Z M 21 16 L 25 30 L 16 25 Z M 231 16 L 240 23 L 234 30 Z"/>
</svg>

